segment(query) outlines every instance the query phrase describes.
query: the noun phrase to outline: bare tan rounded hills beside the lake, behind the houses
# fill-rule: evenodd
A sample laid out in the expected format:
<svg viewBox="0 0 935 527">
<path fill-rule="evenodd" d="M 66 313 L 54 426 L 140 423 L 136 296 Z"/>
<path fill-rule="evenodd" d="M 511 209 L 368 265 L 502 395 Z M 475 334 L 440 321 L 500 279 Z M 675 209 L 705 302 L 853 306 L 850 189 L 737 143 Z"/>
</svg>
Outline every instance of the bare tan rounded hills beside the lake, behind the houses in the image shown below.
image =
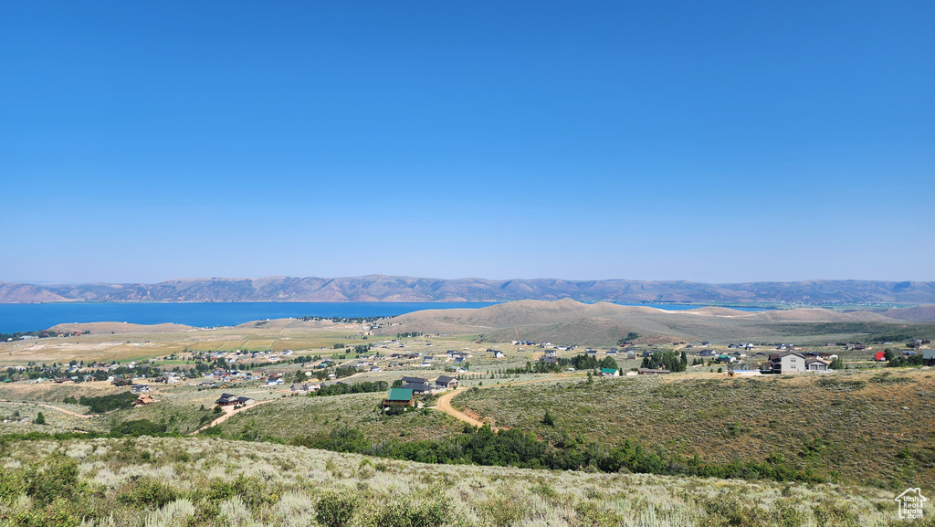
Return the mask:
<svg viewBox="0 0 935 527">
<path fill-rule="evenodd" d="M 891 310 L 892 311 L 892 310 Z M 889 312 L 887 312 L 889 313 Z M 613 345 L 630 332 L 640 343 L 719 343 L 789 338 L 790 335 L 885 333 L 906 321 L 870 311 L 828 309 L 747 312 L 704 307 L 666 311 L 608 302 L 520 300 L 478 309 L 425 310 L 390 319 L 381 334 L 418 331 L 484 335 L 494 341 L 530 340 L 562 344 Z"/>
</svg>

